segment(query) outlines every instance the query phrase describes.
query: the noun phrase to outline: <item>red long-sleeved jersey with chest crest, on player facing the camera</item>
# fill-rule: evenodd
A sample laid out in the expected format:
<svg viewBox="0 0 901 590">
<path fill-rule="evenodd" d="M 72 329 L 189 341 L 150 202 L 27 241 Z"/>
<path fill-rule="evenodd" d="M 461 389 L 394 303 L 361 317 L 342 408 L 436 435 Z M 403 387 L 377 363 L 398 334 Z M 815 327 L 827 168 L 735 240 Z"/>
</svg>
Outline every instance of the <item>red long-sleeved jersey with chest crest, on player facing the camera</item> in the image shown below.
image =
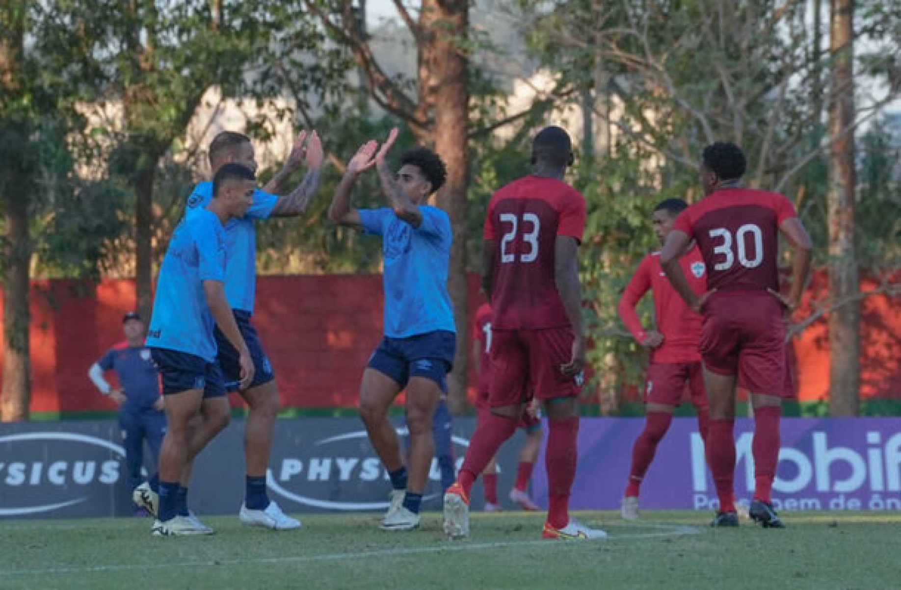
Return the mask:
<svg viewBox="0 0 901 590">
<path fill-rule="evenodd" d="M 704 295 L 707 290 L 705 265 L 697 247 L 688 250 L 678 259 L 678 263 L 688 278 L 691 290 L 697 295 Z M 688 307 L 663 273 L 660 252 L 651 252 L 642 259 L 620 297 L 618 309 L 625 327 L 639 342 L 648 337 L 638 313 L 635 313 L 635 305 L 649 290 L 654 298 L 657 331 L 663 334 L 663 343 L 651 350 L 651 362 L 699 361 L 701 353 L 697 350 L 697 342 L 701 338 L 701 316 Z"/>
</svg>

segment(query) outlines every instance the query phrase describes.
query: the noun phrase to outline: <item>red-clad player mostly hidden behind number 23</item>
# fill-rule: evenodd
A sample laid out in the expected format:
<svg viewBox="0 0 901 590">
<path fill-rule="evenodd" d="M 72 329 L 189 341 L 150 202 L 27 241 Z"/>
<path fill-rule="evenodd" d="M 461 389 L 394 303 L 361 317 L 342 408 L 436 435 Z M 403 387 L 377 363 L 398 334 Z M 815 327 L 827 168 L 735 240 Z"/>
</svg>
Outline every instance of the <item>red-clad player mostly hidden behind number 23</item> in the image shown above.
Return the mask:
<svg viewBox="0 0 901 590">
<path fill-rule="evenodd" d="M 476 338 L 473 340 L 473 359 L 476 360 L 476 370 L 478 371 L 478 398 L 476 399 L 476 407 L 478 414 L 481 416 L 488 409 L 488 354 L 491 351 L 491 305 L 481 304 L 476 310 Z M 510 500 L 514 504 L 519 505 L 523 510 L 534 512 L 540 510 L 538 504 L 535 504 L 529 497 L 528 486 L 529 480 L 532 478 L 532 469 L 535 467 L 535 460 L 538 453 L 542 449 L 542 440 L 544 433 L 542 432 L 541 409 L 535 404 L 536 400 L 532 400 L 532 404 L 525 409 L 522 420 L 519 421 L 519 427 L 525 431 L 525 440 L 523 440 L 523 448 L 519 451 L 519 465 L 516 467 L 516 481 L 513 489 L 510 490 Z M 484 420 L 484 418 L 479 418 Z M 495 458 L 491 458 L 485 470 L 482 472 L 482 485 L 485 486 L 485 512 L 496 513 L 501 510 L 500 504 L 497 502 L 497 464 Z"/>
</svg>

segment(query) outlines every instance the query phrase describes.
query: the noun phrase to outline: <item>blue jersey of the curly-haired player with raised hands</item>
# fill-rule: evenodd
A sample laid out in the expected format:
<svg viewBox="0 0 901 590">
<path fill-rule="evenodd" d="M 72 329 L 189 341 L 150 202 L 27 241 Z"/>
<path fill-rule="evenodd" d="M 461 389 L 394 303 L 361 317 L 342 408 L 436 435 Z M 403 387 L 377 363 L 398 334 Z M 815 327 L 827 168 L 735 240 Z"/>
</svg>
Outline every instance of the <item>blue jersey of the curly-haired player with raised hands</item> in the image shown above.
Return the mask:
<svg viewBox="0 0 901 590">
<path fill-rule="evenodd" d="M 368 233 L 382 237 L 385 257 L 385 335 L 408 338 L 430 331 L 456 331 L 448 265 L 451 220 L 437 207 L 423 205 L 418 228 L 391 209 L 361 209 L 359 221 Z"/>
</svg>

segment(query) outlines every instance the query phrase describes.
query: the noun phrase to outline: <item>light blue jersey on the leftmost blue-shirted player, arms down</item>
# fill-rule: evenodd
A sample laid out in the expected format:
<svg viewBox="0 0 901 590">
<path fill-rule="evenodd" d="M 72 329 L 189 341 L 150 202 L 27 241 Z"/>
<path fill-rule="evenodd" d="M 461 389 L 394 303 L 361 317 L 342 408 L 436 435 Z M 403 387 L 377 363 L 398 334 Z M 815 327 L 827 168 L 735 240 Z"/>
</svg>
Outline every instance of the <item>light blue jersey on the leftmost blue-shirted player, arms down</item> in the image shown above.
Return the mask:
<svg viewBox="0 0 901 590">
<path fill-rule="evenodd" d="M 178 223 L 159 268 L 148 346 L 214 361 L 215 322 L 203 286 L 207 280 L 225 281 L 225 231 L 215 213 L 198 209 Z"/>
</svg>

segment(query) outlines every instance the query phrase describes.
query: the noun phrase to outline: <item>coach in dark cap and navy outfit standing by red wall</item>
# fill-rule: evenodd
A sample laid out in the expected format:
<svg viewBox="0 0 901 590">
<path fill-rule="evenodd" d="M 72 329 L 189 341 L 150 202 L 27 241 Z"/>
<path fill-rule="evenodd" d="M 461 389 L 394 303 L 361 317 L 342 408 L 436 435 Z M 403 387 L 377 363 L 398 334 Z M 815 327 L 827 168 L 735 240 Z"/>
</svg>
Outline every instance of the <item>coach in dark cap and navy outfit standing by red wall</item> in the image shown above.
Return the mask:
<svg viewBox="0 0 901 590">
<path fill-rule="evenodd" d="M 100 393 L 108 395 L 119 406 L 119 428 L 122 430 L 131 491 L 141 484 L 144 440 L 150 447 L 155 469 L 159 446 L 166 433 L 166 413 L 163 412 L 163 398 L 159 395 L 159 374 L 150 358 L 150 349 L 144 346 L 146 331 L 141 316 L 134 312 L 126 313 L 123 317 L 125 340 L 107 350 L 103 358 L 91 365 L 87 372 Z M 110 386 L 104 379 L 104 373 L 109 370 L 115 371 L 119 387 Z M 137 505 L 133 509 L 135 516 L 146 515 Z"/>
</svg>

